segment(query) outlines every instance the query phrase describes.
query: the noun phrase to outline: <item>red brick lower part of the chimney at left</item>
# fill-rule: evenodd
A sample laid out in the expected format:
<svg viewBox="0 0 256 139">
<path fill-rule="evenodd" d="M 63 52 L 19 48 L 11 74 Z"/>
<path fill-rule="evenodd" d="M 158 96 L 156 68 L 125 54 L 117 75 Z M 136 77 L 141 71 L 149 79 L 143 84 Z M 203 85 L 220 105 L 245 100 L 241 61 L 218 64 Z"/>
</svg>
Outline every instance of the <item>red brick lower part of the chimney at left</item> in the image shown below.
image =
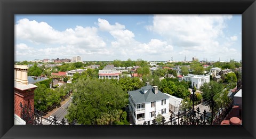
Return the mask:
<svg viewBox="0 0 256 139">
<path fill-rule="evenodd" d="M 25 104 L 27 107 L 30 105 L 31 112 L 34 112 L 34 90 L 35 88 L 30 88 L 25 91 L 21 91 L 18 88 L 14 88 L 14 113 L 19 117 L 21 117 L 20 103 L 22 104 L 22 107 L 25 107 Z"/>
</svg>

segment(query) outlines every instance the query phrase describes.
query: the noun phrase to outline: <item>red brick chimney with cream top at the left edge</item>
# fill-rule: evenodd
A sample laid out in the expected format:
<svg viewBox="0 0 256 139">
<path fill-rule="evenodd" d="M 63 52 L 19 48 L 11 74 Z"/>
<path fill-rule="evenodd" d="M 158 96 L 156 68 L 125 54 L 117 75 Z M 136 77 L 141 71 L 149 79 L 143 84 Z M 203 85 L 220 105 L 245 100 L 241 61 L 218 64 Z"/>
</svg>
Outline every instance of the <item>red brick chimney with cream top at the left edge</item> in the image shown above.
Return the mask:
<svg viewBox="0 0 256 139">
<path fill-rule="evenodd" d="M 36 85 L 28 84 L 28 66 L 14 65 L 14 113 L 21 117 L 20 103 L 31 107 L 34 112 L 34 90 Z"/>
</svg>

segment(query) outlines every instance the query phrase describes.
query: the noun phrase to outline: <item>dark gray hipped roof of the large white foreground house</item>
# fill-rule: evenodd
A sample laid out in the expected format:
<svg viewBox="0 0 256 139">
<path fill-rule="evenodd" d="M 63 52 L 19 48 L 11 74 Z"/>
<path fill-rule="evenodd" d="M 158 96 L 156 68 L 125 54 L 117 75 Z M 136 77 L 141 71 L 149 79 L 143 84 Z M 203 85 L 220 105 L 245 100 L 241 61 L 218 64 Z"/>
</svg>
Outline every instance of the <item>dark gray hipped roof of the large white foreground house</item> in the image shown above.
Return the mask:
<svg viewBox="0 0 256 139">
<path fill-rule="evenodd" d="M 148 90 L 148 92 L 144 94 L 143 90 Z M 144 86 L 136 91 L 129 91 L 128 93 L 131 95 L 135 104 L 169 99 L 170 97 L 159 90 L 158 90 L 158 93 L 155 94 L 153 90 L 153 86 L 151 85 Z"/>
</svg>

